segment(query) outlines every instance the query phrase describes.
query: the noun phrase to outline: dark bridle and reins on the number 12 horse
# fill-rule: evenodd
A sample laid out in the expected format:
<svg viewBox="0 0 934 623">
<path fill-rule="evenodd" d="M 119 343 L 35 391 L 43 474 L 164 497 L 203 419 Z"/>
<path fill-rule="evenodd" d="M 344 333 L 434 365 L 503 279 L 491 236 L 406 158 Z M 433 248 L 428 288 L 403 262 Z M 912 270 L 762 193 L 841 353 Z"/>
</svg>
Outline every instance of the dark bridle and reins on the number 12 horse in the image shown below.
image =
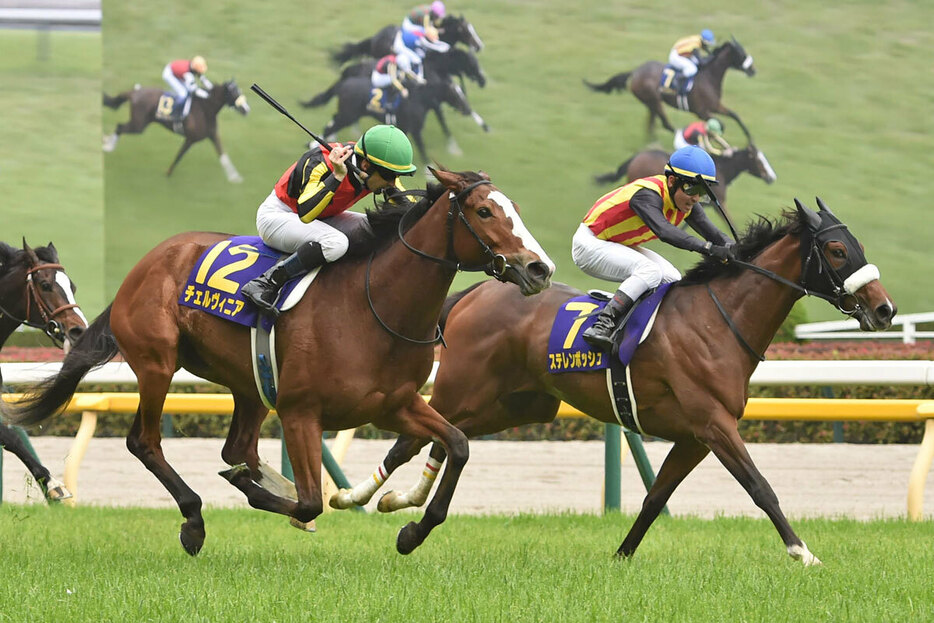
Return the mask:
<svg viewBox="0 0 934 623">
<path fill-rule="evenodd" d="M 473 183 L 471 183 L 471 184 L 468 184 L 466 187 L 464 187 L 464 188 L 463 188 L 460 192 L 458 192 L 456 195 L 455 195 L 454 193 L 449 193 L 449 196 L 450 196 L 450 199 L 449 199 L 450 204 L 449 204 L 449 207 L 448 207 L 448 215 L 447 215 L 447 236 L 448 236 L 448 243 L 447 243 L 447 252 L 445 253 L 445 255 L 446 255 L 447 257 L 436 257 L 436 256 L 431 255 L 431 254 L 429 254 L 429 253 L 425 253 L 425 252 L 422 251 L 421 249 L 417 249 L 417 248 L 413 247 L 413 246 L 412 246 L 411 244 L 409 244 L 409 242 L 405 239 L 405 223 L 406 223 L 406 217 L 407 217 L 409 214 L 412 214 L 412 213 L 413 213 L 413 211 L 415 210 L 415 206 L 413 206 L 412 208 L 410 208 L 405 214 L 402 215 L 402 218 L 399 219 L 399 240 L 402 241 L 402 244 L 405 245 L 405 248 L 406 248 L 406 249 L 408 249 L 409 251 L 411 251 L 411 252 L 414 253 L 415 255 L 417 255 L 417 256 L 419 256 L 419 257 L 422 257 L 422 258 L 425 258 L 426 260 L 429 260 L 429 261 L 434 262 L 434 263 L 436 263 L 436 264 L 440 264 L 440 265 L 444 266 L 445 268 L 447 268 L 447 269 L 449 269 L 449 270 L 452 270 L 452 271 L 454 271 L 454 272 L 457 272 L 457 271 L 468 271 L 468 272 L 479 272 L 479 271 L 483 271 L 483 272 L 485 272 L 486 274 L 490 275 L 491 277 L 494 277 L 494 278 L 497 279 L 498 281 L 505 281 L 505 278 L 503 277 L 503 275 L 504 275 L 505 272 L 506 272 L 507 270 L 509 270 L 512 266 L 511 266 L 511 265 L 509 264 L 509 262 L 506 260 L 506 256 L 505 256 L 505 255 L 502 255 L 501 253 L 496 253 L 496 252 L 494 252 L 493 249 L 490 248 L 490 245 L 488 245 L 486 242 L 483 241 L 483 239 L 480 237 L 480 234 L 478 234 L 478 233 L 476 232 L 476 230 L 470 225 L 470 222 L 467 220 L 467 216 L 464 214 L 464 209 L 463 209 L 463 207 L 461 206 L 461 201 L 462 201 L 468 194 L 470 194 L 470 192 L 471 192 L 474 188 L 476 188 L 476 187 L 478 187 L 478 186 L 485 185 L 485 184 L 492 185 L 493 182 L 491 182 L 491 181 L 489 181 L 489 180 L 479 180 L 479 181 L 477 181 L 477 182 L 473 182 Z M 455 221 L 455 219 L 460 219 L 461 223 L 463 223 L 464 226 L 467 228 L 467 231 L 470 232 L 470 234 L 474 237 L 474 239 L 477 241 L 477 243 L 478 243 L 478 244 L 480 245 L 480 247 L 483 249 L 483 252 L 484 252 L 486 255 L 488 255 L 488 256 L 490 257 L 490 261 L 489 261 L 488 263 L 483 264 L 483 265 L 481 265 L 481 266 L 463 266 L 463 265 L 457 260 L 457 254 L 456 254 L 456 252 L 454 251 L 454 221 Z M 383 329 L 385 329 L 390 335 L 392 335 L 392 336 L 394 336 L 394 337 L 397 337 L 397 338 L 399 338 L 399 339 L 401 339 L 401 340 L 405 340 L 406 342 L 409 342 L 409 343 L 411 343 L 411 344 L 435 344 L 435 343 L 437 343 L 437 342 L 439 342 L 439 341 L 443 344 L 443 343 L 444 343 L 444 335 L 443 335 L 442 332 L 441 332 L 441 326 L 440 326 L 440 325 L 437 327 L 437 331 L 436 331 L 436 333 L 435 333 L 435 337 L 434 337 L 434 338 L 432 338 L 432 339 L 430 339 L 430 340 L 418 340 L 418 339 L 415 339 L 415 338 L 407 337 L 407 336 L 402 335 L 401 333 L 395 331 L 395 330 L 392 329 L 389 325 L 387 325 L 387 324 L 383 321 L 382 318 L 379 317 L 379 314 L 376 312 L 376 308 L 373 307 L 373 299 L 372 299 L 371 296 L 370 296 L 370 267 L 373 265 L 373 257 L 374 257 L 375 255 L 376 255 L 376 252 L 374 251 L 373 253 L 370 254 L 370 258 L 369 258 L 369 260 L 367 261 L 365 285 L 366 285 L 366 299 L 367 299 L 367 303 L 369 303 L 369 305 L 370 305 L 370 311 L 373 313 L 373 317 L 376 318 L 376 321 L 379 323 L 379 325 L 380 325 Z M 453 260 L 452 260 L 452 259 L 448 259 L 448 257 L 453 257 L 454 259 L 453 259 Z"/>
</svg>

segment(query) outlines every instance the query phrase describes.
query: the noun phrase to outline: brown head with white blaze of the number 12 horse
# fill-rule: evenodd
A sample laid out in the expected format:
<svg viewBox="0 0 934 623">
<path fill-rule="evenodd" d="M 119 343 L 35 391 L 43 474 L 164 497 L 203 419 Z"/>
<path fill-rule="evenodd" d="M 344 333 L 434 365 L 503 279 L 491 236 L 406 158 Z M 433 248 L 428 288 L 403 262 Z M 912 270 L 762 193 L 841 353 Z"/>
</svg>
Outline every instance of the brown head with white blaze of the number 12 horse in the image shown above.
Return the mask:
<svg viewBox="0 0 934 623">
<path fill-rule="evenodd" d="M 554 262 L 526 229 L 516 203 L 489 176 L 429 170 L 448 191 L 448 221 L 453 228 L 449 253 L 459 264 L 485 265 L 487 273 L 518 285 L 525 296 L 551 285 Z"/>
</svg>

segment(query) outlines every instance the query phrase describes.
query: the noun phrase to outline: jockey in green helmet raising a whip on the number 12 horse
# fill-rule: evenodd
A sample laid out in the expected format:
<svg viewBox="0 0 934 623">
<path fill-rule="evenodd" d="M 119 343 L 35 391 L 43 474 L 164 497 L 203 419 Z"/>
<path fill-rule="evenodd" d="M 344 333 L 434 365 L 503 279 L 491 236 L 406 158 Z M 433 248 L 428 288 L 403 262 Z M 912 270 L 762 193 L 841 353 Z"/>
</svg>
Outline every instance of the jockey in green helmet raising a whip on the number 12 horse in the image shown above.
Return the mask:
<svg viewBox="0 0 934 623">
<path fill-rule="evenodd" d="M 346 165 L 350 160 L 363 177 Z M 261 310 L 275 312 L 279 288 L 293 277 L 340 259 L 349 246 L 344 229 L 366 216 L 347 212 L 371 192 L 397 188 L 415 172 L 412 145 L 399 128 L 376 125 L 356 143 L 315 145 L 290 166 L 256 213 L 256 229 L 270 247 L 291 253 L 241 288 Z"/>
</svg>

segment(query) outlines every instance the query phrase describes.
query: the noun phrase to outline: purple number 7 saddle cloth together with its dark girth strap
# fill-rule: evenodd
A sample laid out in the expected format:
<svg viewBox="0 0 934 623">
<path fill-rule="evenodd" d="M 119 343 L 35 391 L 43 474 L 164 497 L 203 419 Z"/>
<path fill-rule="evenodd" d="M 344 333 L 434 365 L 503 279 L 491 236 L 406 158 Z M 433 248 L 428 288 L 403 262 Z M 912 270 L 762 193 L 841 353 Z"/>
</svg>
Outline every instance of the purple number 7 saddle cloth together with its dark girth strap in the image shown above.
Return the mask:
<svg viewBox="0 0 934 623">
<path fill-rule="evenodd" d="M 631 431 L 643 434 L 639 424 L 636 400 L 632 393 L 629 362 L 652 331 L 655 315 L 672 284 L 666 283 L 644 295 L 617 328 L 613 337 L 613 352 L 607 354 L 591 348 L 581 337 L 597 321 L 606 306 L 609 294 L 591 292 L 565 301 L 558 308 L 548 338 L 548 371 L 592 372 L 606 370 L 607 391 L 619 423 Z"/>
</svg>

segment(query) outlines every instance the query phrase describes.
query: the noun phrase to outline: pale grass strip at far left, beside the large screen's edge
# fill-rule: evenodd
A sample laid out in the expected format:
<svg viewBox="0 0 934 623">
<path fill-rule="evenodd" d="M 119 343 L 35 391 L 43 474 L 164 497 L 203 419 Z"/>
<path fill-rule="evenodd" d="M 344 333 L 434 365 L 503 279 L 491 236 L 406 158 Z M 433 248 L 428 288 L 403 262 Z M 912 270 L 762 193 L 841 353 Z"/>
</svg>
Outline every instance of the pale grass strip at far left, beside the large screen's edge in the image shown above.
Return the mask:
<svg viewBox="0 0 934 623">
<path fill-rule="evenodd" d="M 0 240 L 55 243 L 88 315 L 104 306 L 98 33 L 0 31 Z"/>
</svg>

